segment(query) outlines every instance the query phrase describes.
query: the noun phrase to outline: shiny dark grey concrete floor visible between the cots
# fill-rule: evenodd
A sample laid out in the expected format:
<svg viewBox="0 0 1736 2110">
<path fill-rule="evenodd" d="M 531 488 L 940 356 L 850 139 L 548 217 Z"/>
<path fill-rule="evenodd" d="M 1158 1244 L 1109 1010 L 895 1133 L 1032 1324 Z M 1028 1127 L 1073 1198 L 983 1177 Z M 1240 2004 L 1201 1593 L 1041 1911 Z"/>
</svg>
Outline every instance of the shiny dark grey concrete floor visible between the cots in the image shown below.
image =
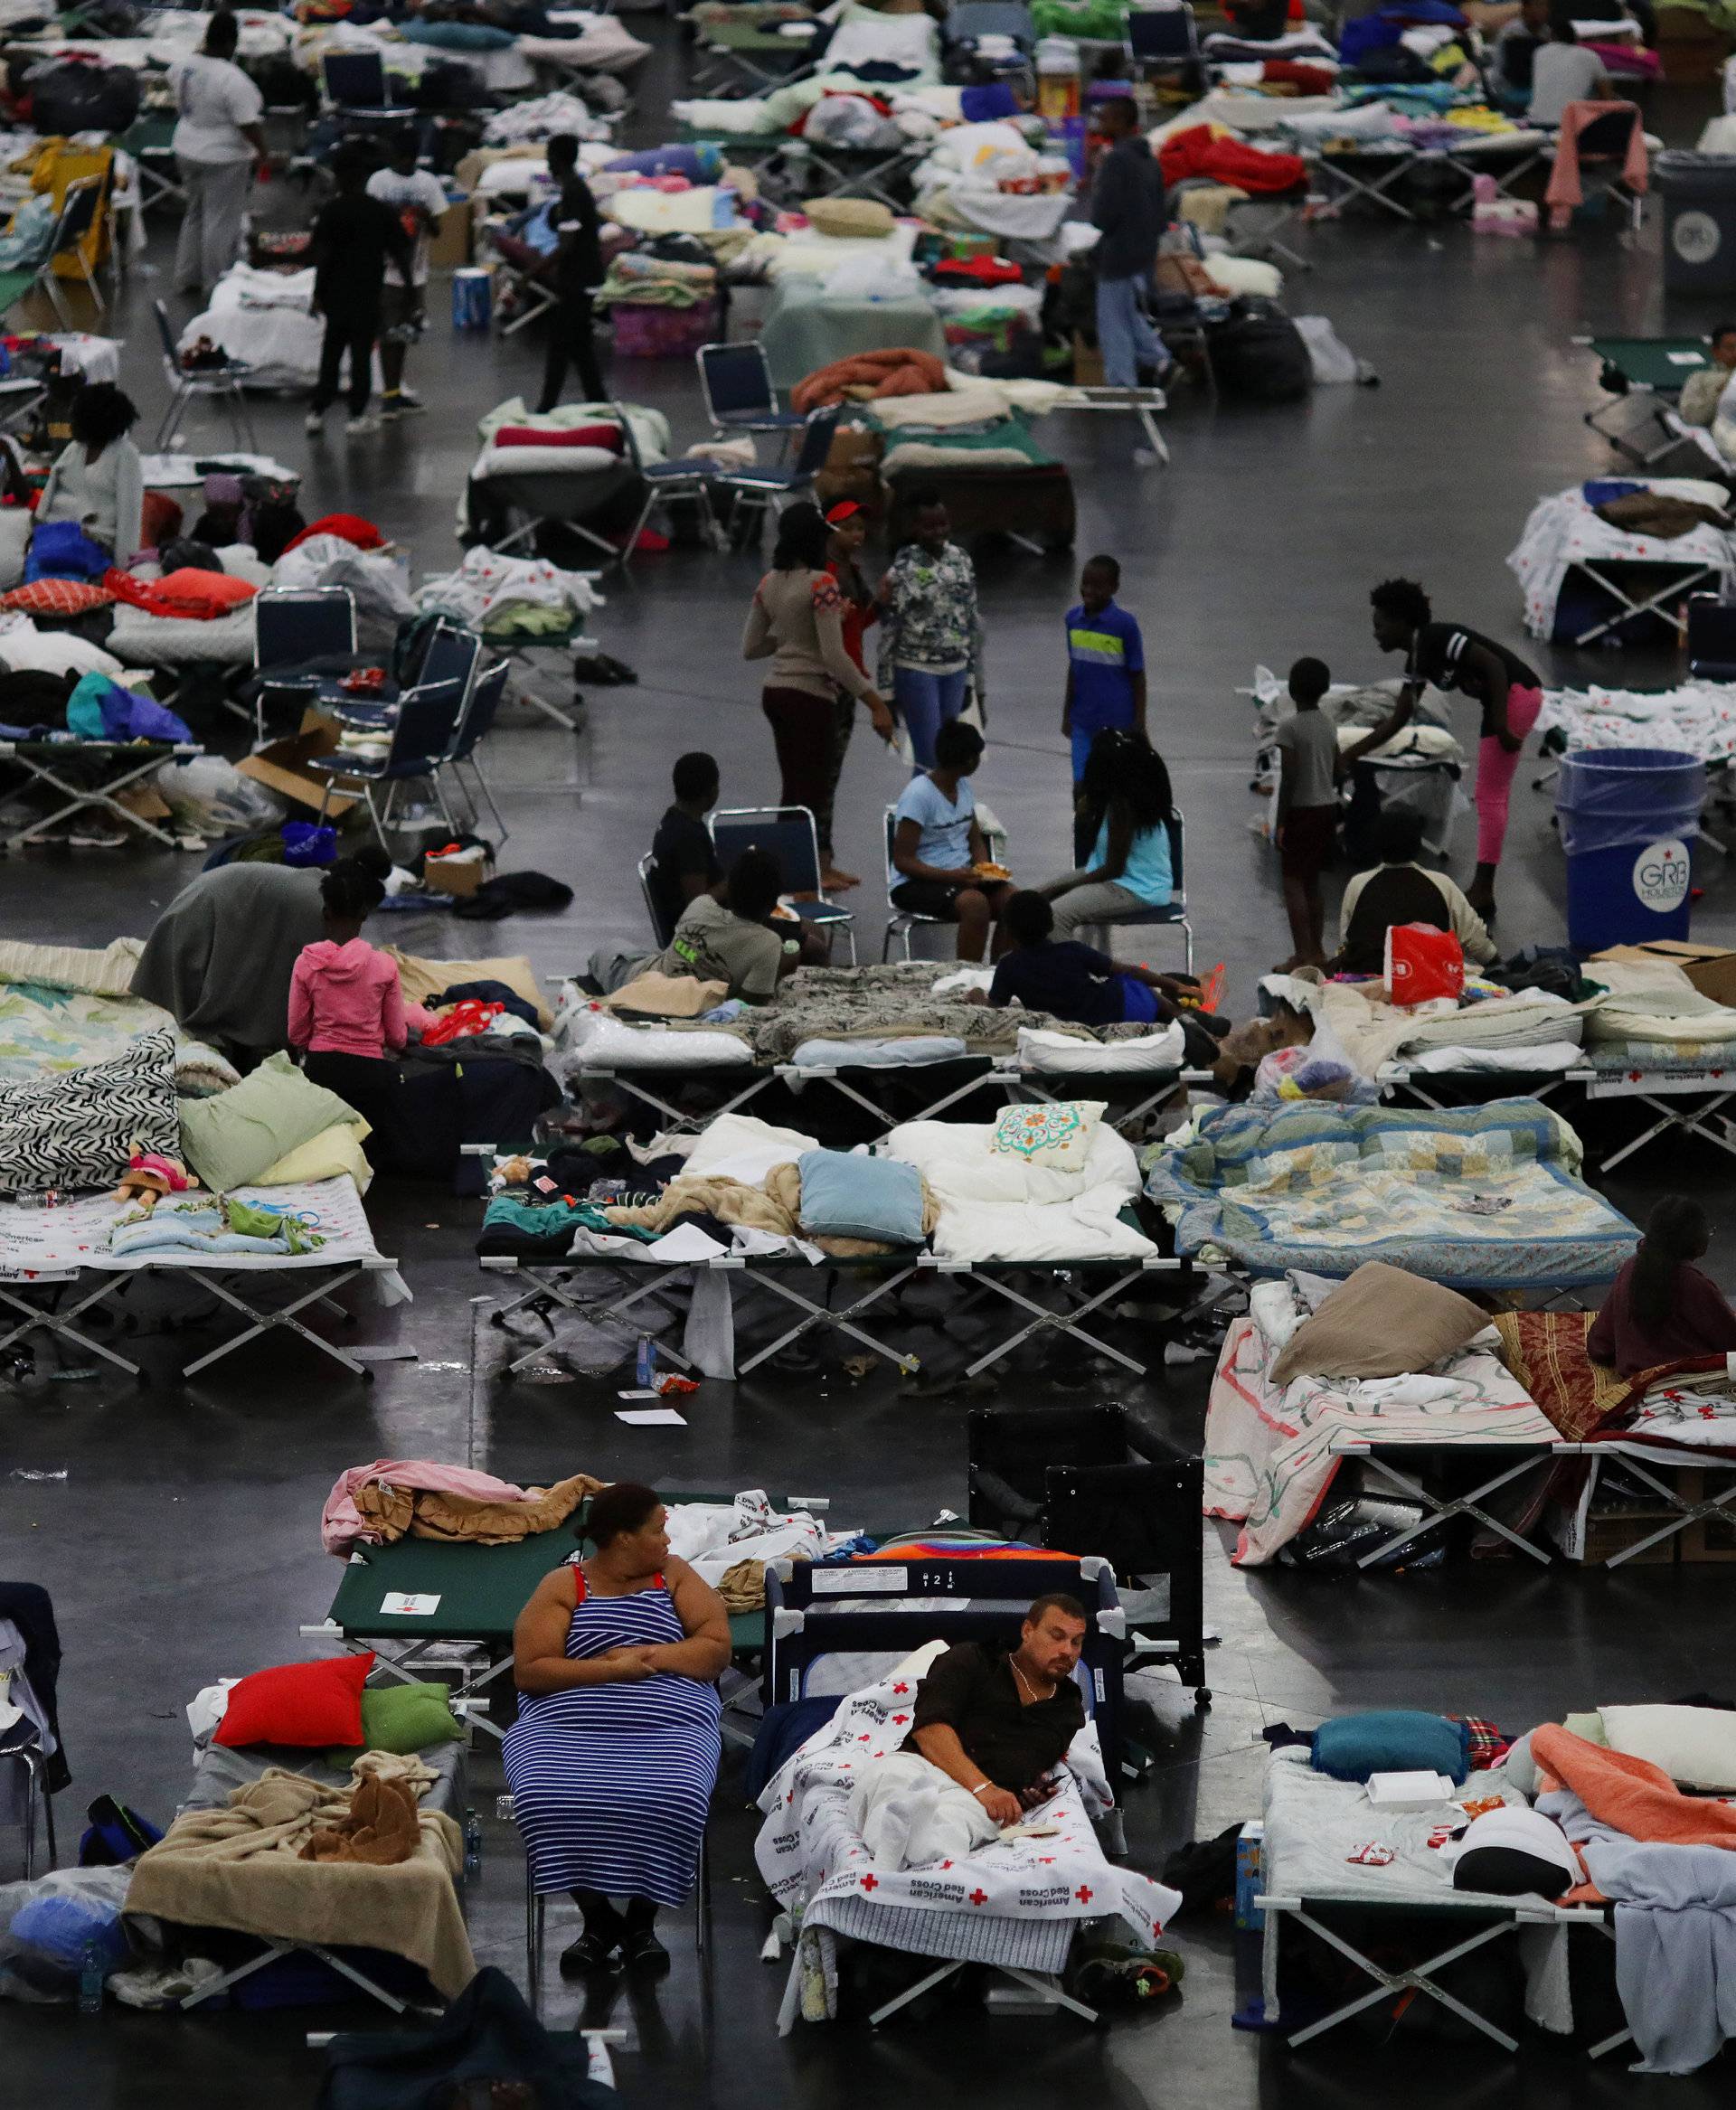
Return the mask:
<svg viewBox="0 0 1736 2110">
<path fill-rule="evenodd" d="M 645 17 L 635 17 L 635 27 Z M 671 82 L 662 49 L 645 103 Z M 1692 137 L 1700 108 L 1662 103 L 1673 137 Z M 658 137 L 641 122 L 641 135 Z M 1131 464 L 1133 435 L 1110 420 L 1053 420 L 1044 437 L 1074 471 L 1080 555 L 1107 549 L 1124 568 L 1124 599 L 1145 625 L 1152 732 L 1169 757 L 1190 819 L 1190 893 L 1200 960 L 1226 960 L 1228 1006 L 1251 1004 L 1253 977 L 1289 950 L 1274 859 L 1247 831 L 1249 705 L 1236 694 L 1255 663 L 1285 667 L 1323 654 L 1337 675 L 1390 671 L 1369 641 L 1367 589 L 1390 572 L 1426 580 L 1436 610 L 1523 646 L 1519 591 L 1506 551 L 1540 492 L 1607 468 L 1609 449 L 1584 428 L 1590 359 L 1571 346 L 1588 329 L 1702 327 L 1702 310 L 1666 310 L 1658 287 L 1656 222 L 1639 243 L 1597 230 L 1582 241 L 1474 241 L 1464 226 L 1413 230 L 1354 219 L 1308 236 L 1318 270 L 1293 279 L 1295 312 L 1329 314 L 1380 376 L 1377 390 L 1320 390 L 1285 409 L 1213 409 L 1185 392 L 1169 420 L 1175 462 Z M 158 236 L 152 255 L 167 262 Z M 122 380 L 154 424 L 160 365 L 143 302 L 162 279 L 135 276 L 122 302 L 129 352 Z M 751 316 L 749 316 L 751 321 Z M 411 382 L 430 401 L 413 426 L 308 456 L 300 403 L 259 414 L 264 445 L 308 464 L 304 511 L 348 506 L 411 546 L 418 576 L 456 561 L 451 506 L 475 452 L 475 418 L 532 388 L 538 348 L 447 335 L 443 319 Z M 677 443 L 696 439 L 698 390 L 681 365 L 620 363 L 616 392 L 662 405 Z M 1067 764 L 1059 736 L 1059 618 L 1074 563 L 1008 546 L 979 551 L 989 627 L 991 749 L 981 793 L 1006 821 L 1021 874 L 1057 869 L 1067 850 Z M 538 867 L 576 888 L 570 912 L 515 918 L 489 933 L 529 952 L 542 971 L 572 966 L 595 943 L 641 937 L 633 863 L 667 800 L 669 764 L 707 745 L 724 762 L 728 802 L 776 789 L 757 677 L 736 637 L 755 559 L 677 551 L 648 557 L 607 584 L 599 641 L 639 669 L 637 688 L 597 690 L 582 736 L 506 724 L 489 743 L 489 772 L 510 821 L 504 867 Z M 1571 665 L 1538 654 L 1555 677 L 1635 682 L 1669 669 L 1612 656 Z M 1466 732 L 1472 728 L 1466 724 Z M 228 728 L 211 728 L 228 738 Z M 1521 779 L 1529 785 L 1529 779 Z M 877 952 L 884 903 L 877 817 L 896 774 L 867 736 L 852 749 L 840 798 L 840 855 L 869 876 L 861 903 L 863 956 Z M 1470 861 L 1462 823 L 1455 869 Z M 169 855 L 80 852 L 0 863 L 0 933 L 101 943 L 143 933 L 196 869 Z M 1515 800 L 1502 876 L 1502 937 L 1555 941 L 1561 855 L 1544 798 Z M 1736 941 L 1736 890 L 1721 867 L 1702 871 L 1696 935 Z M 394 931 L 405 943 L 456 952 L 449 928 Z M 1612 1182 L 1641 1213 L 1666 1186 L 1687 1186 L 1719 1209 L 1728 1169 L 1666 1150 Z M 63 1724 L 74 1789 L 61 1798 L 63 1850 L 78 1810 L 101 1791 L 167 1819 L 188 1779 L 181 1705 L 217 1673 L 300 1652 L 297 1625 L 319 1620 L 335 1564 L 319 1547 L 321 1500 L 342 1466 L 375 1456 L 439 1456 L 515 1479 L 591 1469 L 664 1488 L 808 1485 L 833 1494 L 833 1515 L 867 1528 L 928 1521 L 964 1507 L 964 1401 L 901 1395 L 888 1374 L 755 1376 L 707 1384 L 690 1426 L 633 1431 L 612 1418 L 612 1386 L 580 1380 L 498 1382 L 502 1336 L 491 1283 L 472 1260 L 477 1207 L 439 1188 L 382 1182 L 369 1203 L 380 1245 L 401 1258 L 416 1302 L 361 1312 L 356 1334 L 399 1340 L 416 1361 L 390 1363 L 361 1388 L 297 1342 L 272 1342 L 219 1365 L 213 1382 L 165 1378 L 148 1393 L 108 1378 L 0 1395 L 0 1568 L 44 1582 L 65 1642 Z M 1715 1260 L 1732 1272 L 1725 1222 Z M 1137 1338 L 1137 1327 L 1126 1329 Z M 156 1342 L 146 1355 L 156 1359 Z M 1194 1441 L 1207 1367 L 1160 1372 L 1145 1384 L 1101 1380 L 1088 1395 L 1124 1397 L 1177 1439 Z M 994 1393 L 1040 1401 L 1048 1384 L 1015 1367 Z M 49 1477 L 42 1477 L 49 1475 Z M 65 1475 L 65 1477 L 57 1477 Z M 181 1515 L 175 1515 L 175 1509 Z M 1137 1865 L 1257 1812 L 1261 1728 L 1369 1705 L 1420 1705 L 1493 1715 L 1510 1730 L 1609 1699 L 1669 1699 L 1713 1682 L 1728 1654 L 1728 1587 L 1719 1568 L 1521 1572 L 1508 1564 L 1441 1574 L 1344 1580 L 1236 1574 L 1207 1536 L 1213 1709 L 1194 1715 L 1166 1677 L 1143 1680 L 1160 1745 L 1158 1770 L 1129 1796 Z M 479 1758 L 477 1804 L 491 1808 L 494 1775 Z M 1133 2106 L 1320 2104 L 1367 2099 L 1396 2085 L 1417 2104 L 1586 2104 L 1637 2097 L 1620 2061 L 1588 2070 L 1578 2055 L 1525 2047 L 1517 2061 L 1479 2047 L 1430 2055 L 1331 2036 L 1285 2057 L 1230 2028 L 1234 1969 L 1228 1937 L 1190 1931 L 1190 1977 L 1156 2015 L 1103 2034 L 1069 2021 L 985 2019 L 975 2007 L 901 2019 L 884 2034 L 804 2028 L 772 2034 L 783 1973 L 757 1960 L 766 1929 L 753 1876 L 755 1819 L 738 1775 L 717 1798 L 717 1941 L 700 1971 L 677 1924 L 675 1969 L 654 1992 L 616 1988 L 605 2013 L 629 2030 L 618 2055 L 629 2104 L 831 2104 L 867 2095 L 994 2095 L 1010 2106 L 1057 2097 Z M 0 1874 L 6 1863 L 0 1861 Z M 483 1960 L 519 1969 L 521 1859 L 510 1829 L 487 1821 L 487 1859 L 472 1897 Z M 559 1931 L 559 1929 L 557 1929 Z M 570 1939 L 570 1931 L 559 1933 Z M 572 1988 L 548 1983 L 548 2013 L 578 2017 Z M 365 2019 L 356 2011 L 340 2017 Z M 143 2106 L 249 2102 L 253 2110 L 314 2097 L 319 2057 L 302 2047 L 308 2017 L 215 2015 L 165 2019 L 108 2013 L 0 2011 L 0 2074 L 19 2104 Z M 1679 2083 L 1673 2102 L 1711 2102 L 1728 2068 Z"/>
</svg>

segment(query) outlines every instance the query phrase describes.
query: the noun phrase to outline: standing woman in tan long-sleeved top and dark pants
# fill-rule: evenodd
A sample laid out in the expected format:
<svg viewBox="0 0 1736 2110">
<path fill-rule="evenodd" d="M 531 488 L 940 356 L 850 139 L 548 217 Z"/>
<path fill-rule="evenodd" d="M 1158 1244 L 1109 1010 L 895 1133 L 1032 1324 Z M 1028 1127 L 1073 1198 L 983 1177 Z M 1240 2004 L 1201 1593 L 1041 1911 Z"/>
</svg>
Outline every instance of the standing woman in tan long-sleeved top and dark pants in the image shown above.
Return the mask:
<svg viewBox="0 0 1736 2110">
<path fill-rule="evenodd" d="M 892 736 L 892 713 L 844 644 L 844 595 L 827 570 L 829 530 L 818 506 L 791 506 L 778 521 L 772 570 L 753 591 L 742 658 L 768 658 L 764 707 L 772 722 L 780 806 L 806 806 L 821 838 L 821 882 L 831 861 L 831 795 L 837 783 L 840 690 L 865 703 L 873 730 Z M 842 876 L 840 876 L 842 878 Z"/>
</svg>

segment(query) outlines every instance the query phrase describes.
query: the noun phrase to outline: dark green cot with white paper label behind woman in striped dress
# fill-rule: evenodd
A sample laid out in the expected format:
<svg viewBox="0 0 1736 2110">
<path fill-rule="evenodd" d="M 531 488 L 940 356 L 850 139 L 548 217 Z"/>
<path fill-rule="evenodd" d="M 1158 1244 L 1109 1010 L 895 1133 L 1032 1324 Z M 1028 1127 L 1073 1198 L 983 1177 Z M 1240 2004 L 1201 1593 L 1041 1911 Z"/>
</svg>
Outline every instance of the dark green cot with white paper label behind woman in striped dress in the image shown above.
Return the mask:
<svg viewBox="0 0 1736 2110">
<path fill-rule="evenodd" d="M 728 1496 L 671 1494 L 669 1500 L 715 1502 Z M 831 1507 L 829 1498 L 812 1494 L 770 1500 L 778 1511 Z M 498 1696 L 489 1688 L 513 1667 L 513 1627 L 538 1582 L 574 1559 L 576 1551 L 574 1532 L 565 1526 L 504 1547 L 445 1538 L 356 1547 L 344 1566 L 331 1610 L 319 1625 L 302 1627 L 302 1639 L 340 1639 L 352 1656 L 373 1650 L 378 1671 L 403 1684 L 449 1680 L 458 1696 L 470 1703 L 470 1726 L 500 1739 L 506 1730 L 489 1720 L 487 1703 Z M 732 1612 L 730 1650 L 736 1665 L 755 1665 L 764 1646 L 766 1614 Z"/>
</svg>

